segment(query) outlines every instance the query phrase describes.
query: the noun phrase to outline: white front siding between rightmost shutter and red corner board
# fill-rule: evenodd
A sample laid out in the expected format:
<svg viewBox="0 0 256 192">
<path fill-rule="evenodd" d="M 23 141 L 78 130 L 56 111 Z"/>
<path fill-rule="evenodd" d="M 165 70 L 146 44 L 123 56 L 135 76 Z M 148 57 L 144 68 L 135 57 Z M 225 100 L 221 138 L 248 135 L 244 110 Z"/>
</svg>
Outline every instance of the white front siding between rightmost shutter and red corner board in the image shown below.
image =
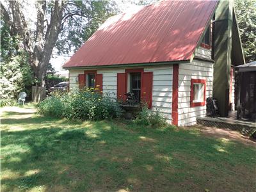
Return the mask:
<svg viewBox="0 0 256 192">
<path fill-rule="evenodd" d="M 145 67 L 145 72 L 153 72 L 152 110 L 160 111 L 168 122 L 172 122 L 172 65 Z"/>
</svg>

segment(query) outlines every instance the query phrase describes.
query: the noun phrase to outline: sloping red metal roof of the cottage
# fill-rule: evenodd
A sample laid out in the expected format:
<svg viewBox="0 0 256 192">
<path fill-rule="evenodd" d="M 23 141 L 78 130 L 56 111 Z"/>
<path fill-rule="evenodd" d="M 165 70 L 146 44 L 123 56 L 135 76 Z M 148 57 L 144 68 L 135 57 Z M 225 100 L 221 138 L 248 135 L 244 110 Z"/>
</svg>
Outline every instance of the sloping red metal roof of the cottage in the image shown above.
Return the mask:
<svg viewBox="0 0 256 192">
<path fill-rule="evenodd" d="M 109 18 L 63 65 L 190 60 L 218 0 L 166 0 Z"/>
</svg>

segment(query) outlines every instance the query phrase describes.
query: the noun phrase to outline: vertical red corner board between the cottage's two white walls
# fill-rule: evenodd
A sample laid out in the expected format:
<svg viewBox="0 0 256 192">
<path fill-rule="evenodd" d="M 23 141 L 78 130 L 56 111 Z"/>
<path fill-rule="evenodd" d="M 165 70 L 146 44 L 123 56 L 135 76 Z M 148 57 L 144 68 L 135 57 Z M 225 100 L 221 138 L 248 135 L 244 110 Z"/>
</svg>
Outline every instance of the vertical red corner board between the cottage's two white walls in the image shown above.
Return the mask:
<svg viewBox="0 0 256 192">
<path fill-rule="evenodd" d="M 179 64 L 173 65 L 172 74 L 172 124 L 178 125 Z"/>
</svg>

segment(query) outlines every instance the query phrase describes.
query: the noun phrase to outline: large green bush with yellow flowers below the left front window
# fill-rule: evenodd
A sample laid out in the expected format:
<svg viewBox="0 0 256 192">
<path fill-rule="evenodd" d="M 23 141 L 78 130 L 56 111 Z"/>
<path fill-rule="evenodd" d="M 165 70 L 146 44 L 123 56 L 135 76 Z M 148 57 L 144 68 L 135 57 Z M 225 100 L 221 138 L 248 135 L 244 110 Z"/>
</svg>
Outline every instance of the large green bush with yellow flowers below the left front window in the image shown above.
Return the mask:
<svg viewBox="0 0 256 192">
<path fill-rule="evenodd" d="M 122 113 L 122 109 L 114 99 L 108 95 L 102 96 L 93 89 L 54 93 L 42 101 L 38 108 L 42 115 L 52 116 L 54 115 L 52 111 L 58 110 L 58 117 L 63 116 L 73 120 L 103 120 L 117 118 Z"/>
</svg>

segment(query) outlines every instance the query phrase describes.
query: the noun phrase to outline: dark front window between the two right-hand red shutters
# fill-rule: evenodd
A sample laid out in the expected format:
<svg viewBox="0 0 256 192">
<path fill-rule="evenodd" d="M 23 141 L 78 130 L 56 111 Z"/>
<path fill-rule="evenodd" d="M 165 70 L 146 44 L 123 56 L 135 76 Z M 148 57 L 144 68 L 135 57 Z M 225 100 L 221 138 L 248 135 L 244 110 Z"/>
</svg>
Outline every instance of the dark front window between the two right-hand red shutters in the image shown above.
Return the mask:
<svg viewBox="0 0 256 192">
<path fill-rule="evenodd" d="M 141 73 L 130 73 L 130 92 L 134 94 L 136 102 L 140 102 Z"/>
</svg>

